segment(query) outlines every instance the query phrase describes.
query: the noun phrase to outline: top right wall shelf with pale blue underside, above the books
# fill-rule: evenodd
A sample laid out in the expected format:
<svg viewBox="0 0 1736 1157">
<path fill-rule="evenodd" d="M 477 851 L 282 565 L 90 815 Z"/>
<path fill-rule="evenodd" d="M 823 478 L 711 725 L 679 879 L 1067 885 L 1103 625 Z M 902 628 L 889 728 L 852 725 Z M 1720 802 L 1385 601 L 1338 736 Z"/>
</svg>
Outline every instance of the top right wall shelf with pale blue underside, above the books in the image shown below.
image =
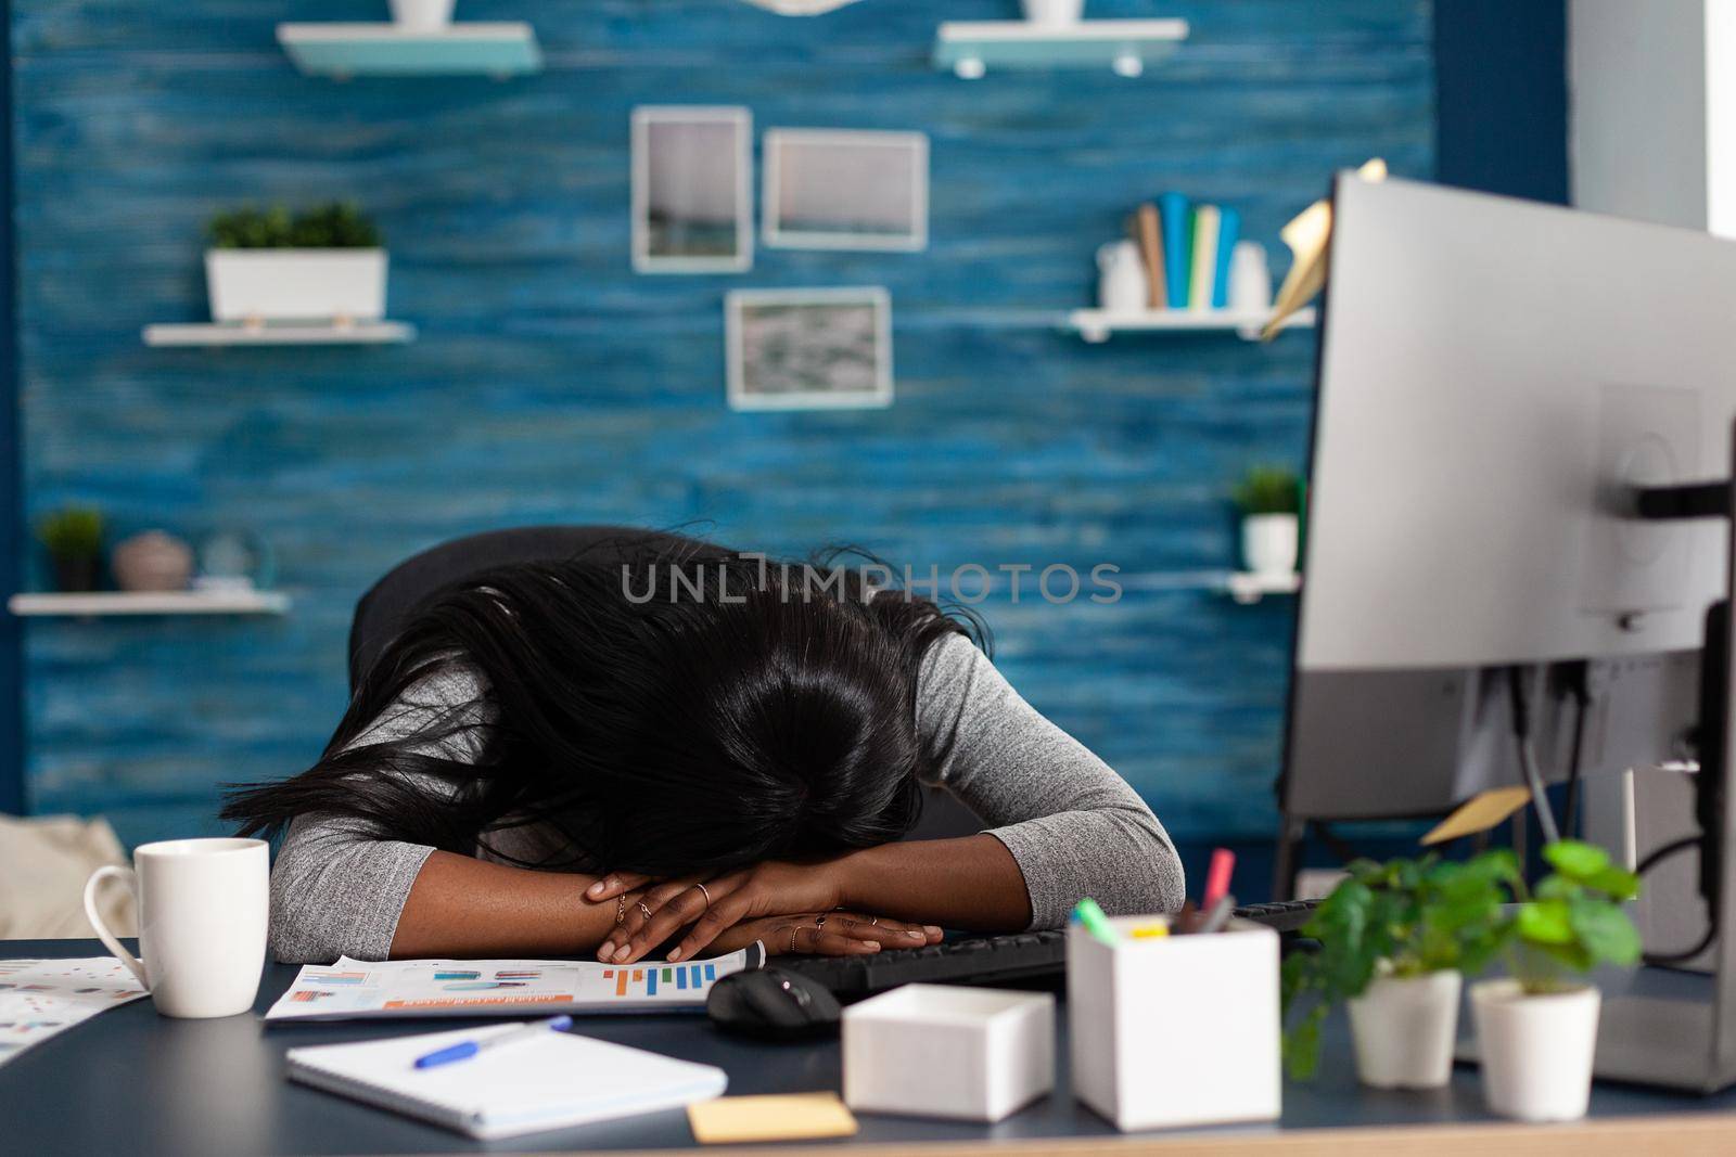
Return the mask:
<svg viewBox="0 0 1736 1157">
<path fill-rule="evenodd" d="M 1187 21 L 948 21 L 934 35 L 934 68 L 977 80 L 991 68 L 1109 68 L 1139 76 L 1187 40 Z"/>
</svg>

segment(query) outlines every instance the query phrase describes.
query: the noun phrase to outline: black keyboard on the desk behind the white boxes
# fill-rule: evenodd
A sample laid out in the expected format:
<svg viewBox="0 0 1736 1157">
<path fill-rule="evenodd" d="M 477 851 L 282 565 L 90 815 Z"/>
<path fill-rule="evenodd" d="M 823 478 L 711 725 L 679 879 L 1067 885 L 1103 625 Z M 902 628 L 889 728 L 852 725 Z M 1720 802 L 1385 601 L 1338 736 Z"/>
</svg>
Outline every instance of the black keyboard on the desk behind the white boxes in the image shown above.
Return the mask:
<svg viewBox="0 0 1736 1157">
<path fill-rule="evenodd" d="M 1295 931 L 1319 900 L 1281 900 L 1238 907 L 1236 916 L 1279 933 Z M 840 1001 L 859 1001 L 901 984 L 1019 985 L 1055 980 L 1066 971 L 1066 931 L 1023 931 L 899 949 L 873 956 L 779 956 L 773 968 L 800 973 L 832 989 Z"/>
</svg>

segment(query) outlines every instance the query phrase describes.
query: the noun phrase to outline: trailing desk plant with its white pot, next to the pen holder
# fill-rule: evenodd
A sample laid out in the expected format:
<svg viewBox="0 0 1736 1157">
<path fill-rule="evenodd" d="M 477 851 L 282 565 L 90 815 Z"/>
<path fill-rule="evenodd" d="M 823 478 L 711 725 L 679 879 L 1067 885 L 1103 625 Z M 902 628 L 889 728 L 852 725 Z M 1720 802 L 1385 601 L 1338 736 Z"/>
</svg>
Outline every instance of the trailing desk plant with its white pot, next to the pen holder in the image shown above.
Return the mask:
<svg viewBox="0 0 1736 1157">
<path fill-rule="evenodd" d="M 1458 864 L 1358 860 L 1304 935 L 1319 952 L 1283 963 L 1283 1004 L 1299 1020 L 1285 1032 L 1293 1077 L 1312 1075 L 1319 1029 L 1333 1004 L 1349 1004 L 1356 1074 L 1363 1084 L 1432 1089 L 1453 1072 L 1462 973 L 1500 951 L 1502 885 L 1517 878 L 1510 852 Z"/>
</svg>

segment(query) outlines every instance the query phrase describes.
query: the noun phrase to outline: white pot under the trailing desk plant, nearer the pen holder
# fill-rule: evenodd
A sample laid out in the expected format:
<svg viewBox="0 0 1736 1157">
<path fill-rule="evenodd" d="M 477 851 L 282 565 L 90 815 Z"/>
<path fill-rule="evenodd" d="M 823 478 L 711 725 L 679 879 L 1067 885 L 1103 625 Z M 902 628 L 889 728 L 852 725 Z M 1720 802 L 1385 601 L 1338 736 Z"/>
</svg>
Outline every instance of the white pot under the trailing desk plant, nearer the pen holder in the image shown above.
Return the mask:
<svg viewBox="0 0 1736 1157">
<path fill-rule="evenodd" d="M 1437 1089 L 1453 1075 L 1457 971 L 1377 977 L 1349 1003 L 1356 1075 L 1377 1089 Z"/>
</svg>

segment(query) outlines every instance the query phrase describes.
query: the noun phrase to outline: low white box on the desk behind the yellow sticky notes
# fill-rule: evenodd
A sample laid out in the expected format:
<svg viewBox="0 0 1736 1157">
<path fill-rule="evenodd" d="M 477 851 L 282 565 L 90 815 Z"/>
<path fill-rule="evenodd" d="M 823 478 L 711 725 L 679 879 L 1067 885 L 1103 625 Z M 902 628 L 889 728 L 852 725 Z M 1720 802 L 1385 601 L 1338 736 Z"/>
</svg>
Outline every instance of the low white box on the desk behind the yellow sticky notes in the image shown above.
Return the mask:
<svg viewBox="0 0 1736 1157">
<path fill-rule="evenodd" d="M 1000 1121 L 1055 1084 L 1049 992 L 906 984 L 844 1010 L 844 1101 Z"/>
</svg>

